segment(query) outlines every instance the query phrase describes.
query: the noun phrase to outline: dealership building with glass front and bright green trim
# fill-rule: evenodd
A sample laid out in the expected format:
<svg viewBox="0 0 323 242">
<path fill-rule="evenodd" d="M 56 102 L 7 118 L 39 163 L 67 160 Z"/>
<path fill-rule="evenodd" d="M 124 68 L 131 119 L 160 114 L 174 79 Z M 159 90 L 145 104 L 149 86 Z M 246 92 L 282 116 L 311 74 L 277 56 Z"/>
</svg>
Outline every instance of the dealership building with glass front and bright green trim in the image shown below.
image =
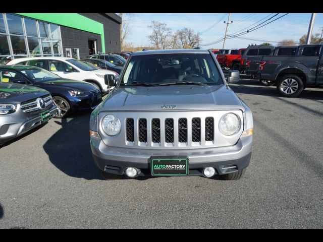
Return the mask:
<svg viewBox="0 0 323 242">
<path fill-rule="evenodd" d="M 0 13 L 0 59 L 120 52 L 121 22 L 114 13 Z"/>
</svg>

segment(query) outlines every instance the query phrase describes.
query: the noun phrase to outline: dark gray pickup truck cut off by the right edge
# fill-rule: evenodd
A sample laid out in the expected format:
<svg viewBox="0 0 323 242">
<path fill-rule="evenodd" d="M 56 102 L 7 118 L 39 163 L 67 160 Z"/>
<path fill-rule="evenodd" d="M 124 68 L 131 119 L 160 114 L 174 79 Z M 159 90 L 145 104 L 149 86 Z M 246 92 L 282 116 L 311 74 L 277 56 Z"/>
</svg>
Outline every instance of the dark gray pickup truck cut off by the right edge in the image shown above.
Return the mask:
<svg viewBox="0 0 323 242">
<path fill-rule="evenodd" d="M 305 87 L 322 87 L 322 45 L 299 45 L 295 55 L 262 56 L 258 76 L 277 84 L 286 97 L 297 97 Z"/>
</svg>

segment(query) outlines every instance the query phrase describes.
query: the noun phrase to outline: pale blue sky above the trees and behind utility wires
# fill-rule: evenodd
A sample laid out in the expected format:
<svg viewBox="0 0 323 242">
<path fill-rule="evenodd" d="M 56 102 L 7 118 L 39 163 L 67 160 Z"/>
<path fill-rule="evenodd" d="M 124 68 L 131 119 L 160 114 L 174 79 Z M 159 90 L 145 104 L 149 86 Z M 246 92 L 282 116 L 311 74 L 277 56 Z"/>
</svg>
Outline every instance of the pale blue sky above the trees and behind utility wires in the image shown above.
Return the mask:
<svg viewBox="0 0 323 242">
<path fill-rule="evenodd" d="M 276 17 L 268 20 L 268 23 L 285 13 L 280 13 Z M 228 35 L 238 34 L 246 30 L 254 30 L 260 27 L 256 26 L 261 22 L 273 17 L 276 13 L 232 13 L 228 27 Z M 307 34 L 308 26 L 311 18 L 311 13 L 290 13 L 264 27 L 244 34 L 240 37 L 251 38 L 232 38 L 227 39 L 225 48 L 246 48 L 248 44 L 261 44 L 263 42 L 270 42 L 277 45 L 278 41 L 283 39 L 292 39 L 296 42 L 299 38 Z M 261 19 L 263 19 L 261 21 Z M 134 43 L 135 46 L 150 46 L 148 35 L 151 34 L 150 25 L 152 20 L 167 24 L 173 31 L 182 28 L 191 28 L 195 33 L 199 32 L 202 38 L 200 43 L 201 48 L 222 48 L 223 40 L 219 43 L 214 43 L 224 37 L 228 15 L 225 13 L 202 13 L 202 14 L 175 14 L 175 13 L 154 13 L 134 14 L 133 20 L 130 23 L 131 33 L 127 38 L 127 42 Z M 265 24 L 264 23 L 264 24 Z M 316 14 L 313 33 L 321 33 L 320 27 L 323 27 L 323 14 Z M 254 29 L 251 29 L 255 27 Z M 277 41 L 277 42 L 275 42 Z"/>
</svg>

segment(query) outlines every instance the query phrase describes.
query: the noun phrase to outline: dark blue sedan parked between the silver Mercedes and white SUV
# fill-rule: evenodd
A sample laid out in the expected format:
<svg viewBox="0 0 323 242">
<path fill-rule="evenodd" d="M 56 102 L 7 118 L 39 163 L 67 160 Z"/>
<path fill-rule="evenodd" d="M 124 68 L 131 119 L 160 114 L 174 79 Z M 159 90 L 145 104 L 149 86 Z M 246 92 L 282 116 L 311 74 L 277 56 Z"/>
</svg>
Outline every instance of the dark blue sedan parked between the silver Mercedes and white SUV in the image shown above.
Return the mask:
<svg viewBox="0 0 323 242">
<path fill-rule="evenodd" d="M 33 85 L 50 92 L 57 105 L 56 118 L 66 117 L 73 110 L 94 109 L 102 94 L 93 84 L 73 81 L 32 66 L 0 66 L 2 82 Z"/>
</svg>

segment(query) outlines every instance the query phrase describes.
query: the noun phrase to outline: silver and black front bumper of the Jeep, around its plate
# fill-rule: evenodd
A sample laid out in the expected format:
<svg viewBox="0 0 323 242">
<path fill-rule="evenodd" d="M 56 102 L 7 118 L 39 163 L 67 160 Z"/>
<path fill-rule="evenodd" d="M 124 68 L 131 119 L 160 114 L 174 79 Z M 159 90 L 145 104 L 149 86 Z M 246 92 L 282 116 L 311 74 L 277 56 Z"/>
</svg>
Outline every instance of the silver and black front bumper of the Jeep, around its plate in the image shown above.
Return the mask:
<svg viewBox="0 0 323 242">
<path fill-rule="evenodd" d="M 150 157 L 187 157 L 189 174 L 202 175 L 204 167 L 214 167 L 217 174 L 227 174 L 242 170 L 251 159 L 252 136 L 240 138 L 236 145 L 229 147 L 190 149 L 190 150 L 138 150 L 131 148 L 108 147 L 101 140 L 90 138 L 96 166 L 107 173 L 125 174 L 127 167 L 141 170 L 140 175 L 150 174 Z M 224 169 L 225 165 L 237 168 Z"/>
</svg>

